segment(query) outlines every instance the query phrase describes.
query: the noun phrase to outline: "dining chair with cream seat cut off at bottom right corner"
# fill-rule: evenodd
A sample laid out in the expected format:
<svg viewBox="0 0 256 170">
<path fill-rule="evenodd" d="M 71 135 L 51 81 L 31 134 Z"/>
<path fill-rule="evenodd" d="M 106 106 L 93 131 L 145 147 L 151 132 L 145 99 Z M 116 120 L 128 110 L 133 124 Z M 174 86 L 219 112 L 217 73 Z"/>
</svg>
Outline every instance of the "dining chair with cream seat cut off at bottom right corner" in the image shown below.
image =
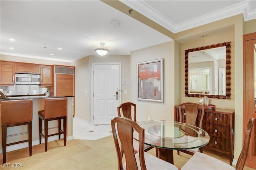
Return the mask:
<svg viewBox="0 0 256 170">
<path fill-rule="evenodd" d="M 222 162 L 221 160 L 213 158 L 212 156 L 209 156 L 207 154 L 203 154 L 200 152 L 196 152 L 188 160 L 188 162 L 186 162 L 186 164 L 182 166 L 181 170 L 195 170 L 195 169 L 196 170 L 206 170 L 206 169 L 242 170 L 244 168 L 244 164 L 247 158 L 253 123 L 254 123 L 254 118 L 249 118 L 247 127 L 245 129 L 245 133 L 244 133 L 244 145 L 243 145 L 242 151 L 240 152 L 238 160 L 236 162 L 236 168 L 234 168 L 233 166 L 230 166 L 225 162 Z"/>
</svg>

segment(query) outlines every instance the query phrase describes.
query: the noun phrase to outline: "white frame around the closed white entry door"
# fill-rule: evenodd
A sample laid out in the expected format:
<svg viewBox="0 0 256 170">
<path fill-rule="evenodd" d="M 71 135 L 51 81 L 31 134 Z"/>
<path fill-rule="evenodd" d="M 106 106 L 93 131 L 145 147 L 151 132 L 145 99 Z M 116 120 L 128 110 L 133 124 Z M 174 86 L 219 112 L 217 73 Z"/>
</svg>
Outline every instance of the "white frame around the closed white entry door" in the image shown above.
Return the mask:
<svg viewBox="0 0 256 170">
<path fill-rule="evenodd" d="M 94 110 L 93 110 L 93 105 L 94 105 L 94 100 L 93 100 L 93 89 L 94 89 L 94 65 L 119 65 L 119 105 L 122 103 L 122 93 L 121 93 L 121 77 L 122 77 L 122 68 L 121 68 L 121 63 L 92 63 L 91 67 L 91 122 L 94 124 Z M 116 112 L 117 114 L 117 112 Z"/>
</svg>

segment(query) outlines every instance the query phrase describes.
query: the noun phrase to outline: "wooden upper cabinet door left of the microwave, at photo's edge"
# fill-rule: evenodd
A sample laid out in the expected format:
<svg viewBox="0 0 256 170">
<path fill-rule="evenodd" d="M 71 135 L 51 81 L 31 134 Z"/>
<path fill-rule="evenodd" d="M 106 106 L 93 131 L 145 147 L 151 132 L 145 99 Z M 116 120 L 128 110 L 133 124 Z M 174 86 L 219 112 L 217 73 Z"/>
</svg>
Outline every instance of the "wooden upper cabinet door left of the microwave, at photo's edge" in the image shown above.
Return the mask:
<svg viewBox="0 0 256 170">
<path fill-rule="evenodd" d="M 0 84 L 14 84 L 14 63 L 11 62 L 0 62 Z"/>
</svg>

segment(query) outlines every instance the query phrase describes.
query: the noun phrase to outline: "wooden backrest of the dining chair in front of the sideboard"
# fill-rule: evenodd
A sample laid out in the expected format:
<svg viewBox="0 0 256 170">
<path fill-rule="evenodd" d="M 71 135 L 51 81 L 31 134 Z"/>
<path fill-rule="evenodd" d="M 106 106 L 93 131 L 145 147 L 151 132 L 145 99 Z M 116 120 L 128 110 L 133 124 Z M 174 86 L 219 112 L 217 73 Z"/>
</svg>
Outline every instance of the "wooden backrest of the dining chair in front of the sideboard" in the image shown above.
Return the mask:
<svg viewBox="0 0 256 170">
<path fill-rule="evenodd" d="M 186 119 L 183 123 L 188 123 L 190 125 L 196 124 L 196 119 L 198 116 L 198 110 L 201 109 L 201 115 L 200 115 L 200 121 L 199 121 L 199 127 L 202 128 L 202 121 L 204 118 L 204 106 L 197 104 L 197 103 L 183 103 L 179 106 L 179 114 L 180 114 L 180 122 L 182 122 L 182 107 L 185 106 L 185 113 L 186 113 Z"/>
</svg>

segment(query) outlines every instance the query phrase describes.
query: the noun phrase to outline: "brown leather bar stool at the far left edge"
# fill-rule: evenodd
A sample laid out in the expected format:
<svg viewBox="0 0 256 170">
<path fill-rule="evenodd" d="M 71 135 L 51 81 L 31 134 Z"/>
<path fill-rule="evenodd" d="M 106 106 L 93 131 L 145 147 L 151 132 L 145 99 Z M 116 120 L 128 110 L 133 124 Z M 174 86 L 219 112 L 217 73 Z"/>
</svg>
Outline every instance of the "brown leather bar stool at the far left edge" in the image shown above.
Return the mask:
<svg viewBox="0 0 256 170">
<path fill-rule="evenodd" d="M 33 100 L 4 100 L 2 105 L 2 147 L 3 162 L 6 163 L 6 146 L 29 143 L 29 156 L 32 155 L 32 115 Z M 28 125 L 28 139 L 6 144 L 7 127 Z"/>
</svg>

